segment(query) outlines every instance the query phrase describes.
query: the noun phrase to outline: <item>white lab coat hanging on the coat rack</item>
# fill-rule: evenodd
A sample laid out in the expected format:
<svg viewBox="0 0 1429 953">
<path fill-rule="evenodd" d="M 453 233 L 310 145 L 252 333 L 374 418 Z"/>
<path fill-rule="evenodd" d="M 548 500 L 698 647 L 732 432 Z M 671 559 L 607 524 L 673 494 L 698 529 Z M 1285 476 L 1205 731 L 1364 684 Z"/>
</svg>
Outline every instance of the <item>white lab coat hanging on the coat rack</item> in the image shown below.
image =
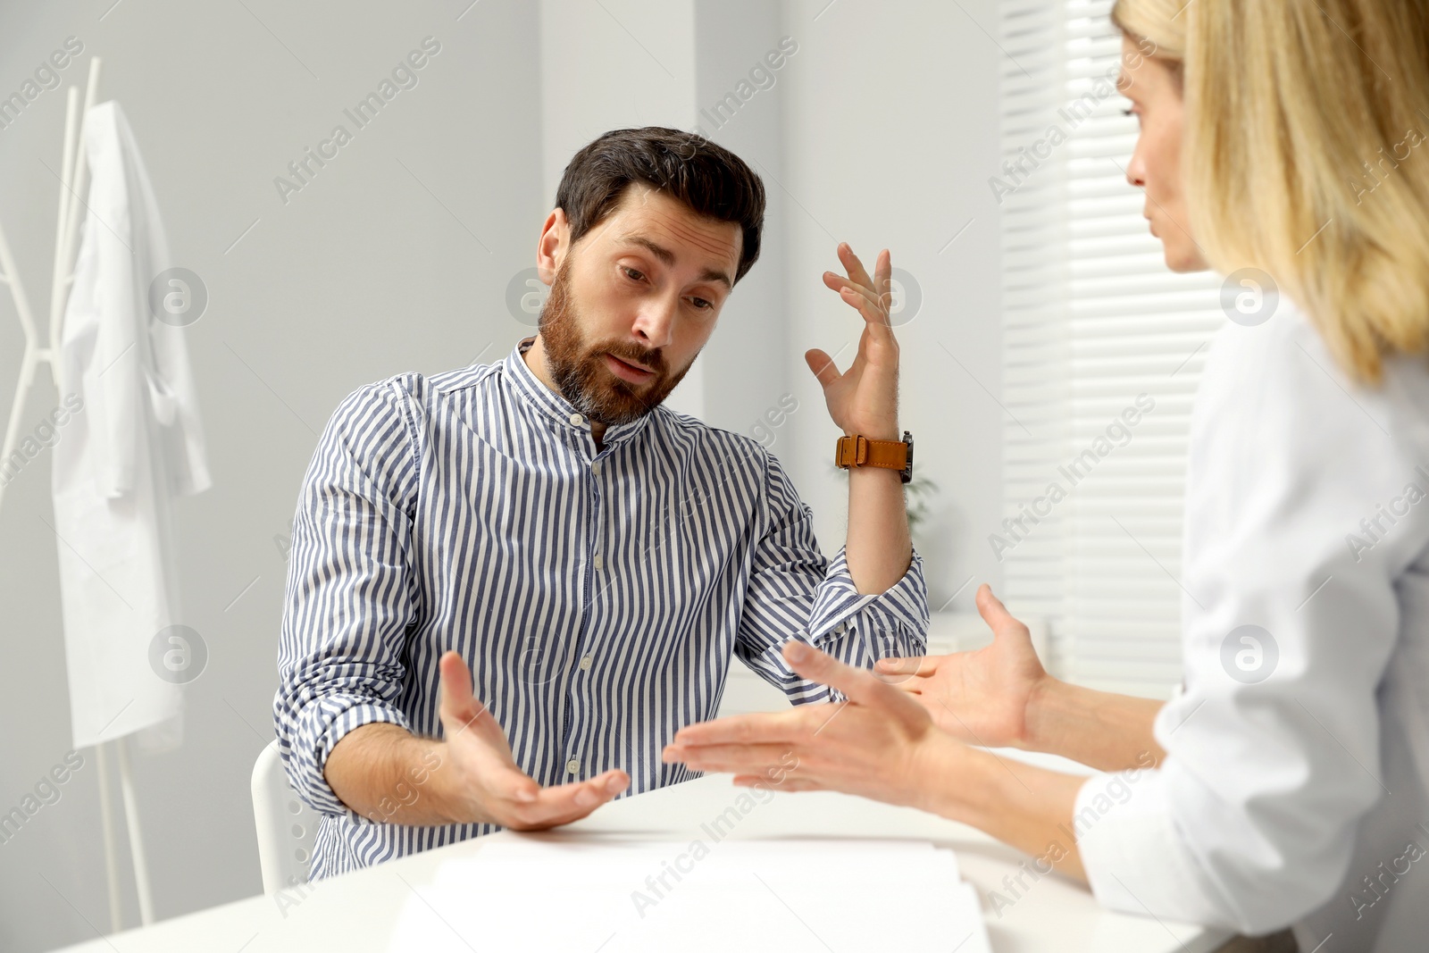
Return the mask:
<svg viewBox="0 0 1429 953">
<path fill-rule="evenodd" d="M 170 266 L 149 174 L 117 103 L 90 113 L 91 170 L 60 379 L 83 409 L 54 444 L 51 489 L 74 747 L 180 737 L 180 687 L 150 643 L 183 623 L 170 497 L 210 486 L 183 336 L 149 311 Z"/>
</svg>

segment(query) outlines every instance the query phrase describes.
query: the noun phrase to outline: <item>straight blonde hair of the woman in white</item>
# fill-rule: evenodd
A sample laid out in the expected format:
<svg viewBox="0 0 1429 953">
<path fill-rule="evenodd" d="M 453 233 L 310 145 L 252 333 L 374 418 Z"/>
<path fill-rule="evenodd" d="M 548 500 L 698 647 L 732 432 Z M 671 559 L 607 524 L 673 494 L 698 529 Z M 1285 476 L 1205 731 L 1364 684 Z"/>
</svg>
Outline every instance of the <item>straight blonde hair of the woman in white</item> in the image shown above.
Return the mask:
<svg viewBox="0 0 1429 953">
<path fill-rule="evenodd" d="M 1266 271 L 1378 383 L 1429 346 L 1429 0 L 1172 7 L 1113 20 L 1180 50 L 1196 243 L 1223 274 Z"/>
</svg>

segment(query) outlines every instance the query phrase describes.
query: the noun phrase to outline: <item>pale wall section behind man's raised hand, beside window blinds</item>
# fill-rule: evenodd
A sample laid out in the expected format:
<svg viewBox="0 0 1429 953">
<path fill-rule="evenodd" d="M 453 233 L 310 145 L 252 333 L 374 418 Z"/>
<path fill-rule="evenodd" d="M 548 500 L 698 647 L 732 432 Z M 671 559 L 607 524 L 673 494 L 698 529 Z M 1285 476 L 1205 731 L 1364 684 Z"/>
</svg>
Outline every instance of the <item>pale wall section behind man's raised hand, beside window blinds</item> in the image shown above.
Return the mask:
<svg viewBox="0 0 1429 953">
<path fill-rule="evenodd" d="M 862 319 L 819 276 L 840 270 L 839 241 L 870 270 L 887 247 L 923 299 L 897 333 L 913 469 L 939 486 L 915 540 L 927 559 L 933 609 L 969 577 L 947 609 L 970 609 L 980 582 L 1000 583 L 986 544 L 1002 516 L 1002 410 L 987 393 L 1000 390 L 999 221 L 986 180 L 997 159 L 997 76 L 1007 63 L 979 29 L 996 33 L 995 9 L 993 0 L 785 7 L 785 33 L 800 44 L 783 87 L 783 190 L 795 203 L 787 236 L 789 379 L 800 401 L 790 427 L 795 482 L 817 516 L 820 543 L 836 549 L 847 483 L 832 467 L 839 431 L 803 351 L 835 354 L 847 344 L 837 357 L 840 370 L 847 367 Z"/>
</svg>

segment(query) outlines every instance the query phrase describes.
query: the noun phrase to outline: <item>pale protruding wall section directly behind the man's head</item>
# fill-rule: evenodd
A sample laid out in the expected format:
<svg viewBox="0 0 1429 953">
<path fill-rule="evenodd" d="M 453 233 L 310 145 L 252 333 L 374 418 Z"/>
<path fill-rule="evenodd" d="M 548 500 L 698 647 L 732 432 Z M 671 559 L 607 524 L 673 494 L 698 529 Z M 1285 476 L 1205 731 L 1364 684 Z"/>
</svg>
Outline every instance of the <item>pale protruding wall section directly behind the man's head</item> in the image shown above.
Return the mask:
<svg viewBox="0 0 1429 953">
<path fill-rule="evenodd" d="M 540 6 L 547 203 L 554 204 L 556 186 L 572 154 L 600 133 L 622 127 L 697 130 L 735 150 L 756 171 L 780 174 L 783 67 L 772 70 L 769 89 L 750 94 L 722 126 L 707 119 L 709 107 L 737 89 L 750 69 L 779 46 L 779 4 L 542 0 Z M 769 407 L 789 393 L 783 380 L 785 204 L 775 190 L 759 261 L 740 280 L 720 314 L 717 333 L 669 397 L 672 407 L 740 433 L 753 433 Z M 530 240 L 533 256 L 536 234 Z"/>
</svg>

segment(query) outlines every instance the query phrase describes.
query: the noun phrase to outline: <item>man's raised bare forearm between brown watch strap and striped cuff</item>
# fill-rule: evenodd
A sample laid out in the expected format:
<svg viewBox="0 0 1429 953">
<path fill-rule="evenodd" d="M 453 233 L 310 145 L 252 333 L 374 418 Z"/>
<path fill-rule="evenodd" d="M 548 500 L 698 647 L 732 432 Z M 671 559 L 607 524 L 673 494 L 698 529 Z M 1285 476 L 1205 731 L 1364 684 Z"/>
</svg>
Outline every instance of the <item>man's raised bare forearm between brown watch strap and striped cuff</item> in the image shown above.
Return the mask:
<svg viewBox="0 0 1429 953">
<path fill-rule="evenodd" d="M 892 437 L 897 439 L 897 437 Z M 849 470 L 849 576 L 860 593 L 883 593 L 907 573 L 913 543 L 903 483 L 896 470 Z"/>
</svg>

